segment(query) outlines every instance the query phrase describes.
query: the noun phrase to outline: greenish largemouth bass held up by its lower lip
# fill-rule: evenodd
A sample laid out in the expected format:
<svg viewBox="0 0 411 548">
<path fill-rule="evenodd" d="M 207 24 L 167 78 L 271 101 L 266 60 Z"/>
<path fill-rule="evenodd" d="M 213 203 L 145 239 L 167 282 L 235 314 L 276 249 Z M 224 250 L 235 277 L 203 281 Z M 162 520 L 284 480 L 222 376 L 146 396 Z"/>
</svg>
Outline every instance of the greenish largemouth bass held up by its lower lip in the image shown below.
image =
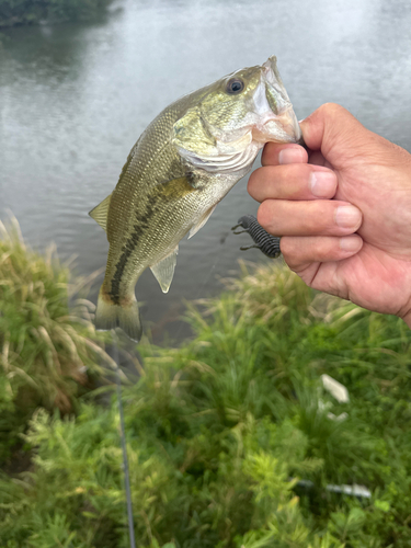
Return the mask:
<svg viewBox="0 0 411 548">
<path fill-rule="evenodd" d="M 180 240 L 204 227 L 267 141 L 301 141 L 275 56 L 184 95 L 147 126 L 117 185 L 89 214 L 110 244 L 96 329 L 140 340 L 139 276 L 150 267 L 169 290 Z"/>
</svg>

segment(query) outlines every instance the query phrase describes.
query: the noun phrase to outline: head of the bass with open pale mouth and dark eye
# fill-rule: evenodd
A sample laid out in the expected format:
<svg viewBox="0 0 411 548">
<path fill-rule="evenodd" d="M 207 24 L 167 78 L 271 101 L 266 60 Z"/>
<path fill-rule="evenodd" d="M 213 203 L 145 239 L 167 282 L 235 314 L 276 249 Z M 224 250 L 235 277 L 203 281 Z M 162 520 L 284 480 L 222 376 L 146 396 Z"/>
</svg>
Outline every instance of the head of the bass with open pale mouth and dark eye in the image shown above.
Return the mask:
<svg viewBox="0 0 411 548">
<path fill-rule="evenodd" d="M 301 132 L 270 57 L 203 88 L 174 124 L 172 141 L 190 163 L 206 171 L 238 171 L 252 164 L 265 142 L 297 142 Z"/>
</svg>

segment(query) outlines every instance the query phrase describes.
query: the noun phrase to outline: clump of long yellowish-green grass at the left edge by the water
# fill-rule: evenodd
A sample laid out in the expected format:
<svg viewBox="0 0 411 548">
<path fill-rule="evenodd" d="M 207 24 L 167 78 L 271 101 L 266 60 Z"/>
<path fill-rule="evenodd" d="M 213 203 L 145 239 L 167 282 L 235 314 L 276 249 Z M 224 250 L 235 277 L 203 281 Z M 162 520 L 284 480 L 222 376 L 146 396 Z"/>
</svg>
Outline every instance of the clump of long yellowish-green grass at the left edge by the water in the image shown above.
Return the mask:
<svg viewBox="0 0 411 548">
<path fill-rule="evenodd" d="M 53 247 L 45 256 L 30 250 L 15 219 L 0 222 L 0 461 L 36 408 L 72 412 L 99 364 L 110 365 L 93 305 L 73 299 L 84 283 L 70 283 Z"/>
</svg>

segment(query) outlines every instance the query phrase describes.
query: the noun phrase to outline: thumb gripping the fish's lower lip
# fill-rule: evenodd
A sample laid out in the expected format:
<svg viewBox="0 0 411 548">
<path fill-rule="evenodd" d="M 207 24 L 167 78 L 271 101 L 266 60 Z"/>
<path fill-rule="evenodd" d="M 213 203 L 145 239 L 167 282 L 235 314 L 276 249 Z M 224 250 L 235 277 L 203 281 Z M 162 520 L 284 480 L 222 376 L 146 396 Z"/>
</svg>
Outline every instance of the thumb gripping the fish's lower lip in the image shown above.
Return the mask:
<svg viewBox="0 0 411 548">
<path fill-rule="evenodd" d="M 369 140 L 366 129 L 346 109 L 335 103 L 326 103 L 300 123 L 304 140 L 311 150 L 321 150 L 322 156 L 339 169 L 339 163 Z"/>
</svg>

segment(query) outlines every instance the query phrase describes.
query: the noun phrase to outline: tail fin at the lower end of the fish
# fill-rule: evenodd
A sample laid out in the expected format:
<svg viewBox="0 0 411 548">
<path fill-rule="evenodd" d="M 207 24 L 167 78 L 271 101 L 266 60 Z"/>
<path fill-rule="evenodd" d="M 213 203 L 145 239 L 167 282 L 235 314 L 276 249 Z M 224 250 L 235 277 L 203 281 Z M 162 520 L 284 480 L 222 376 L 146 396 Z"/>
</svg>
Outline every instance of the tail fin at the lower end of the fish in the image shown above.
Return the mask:
<svg viewBox="0 0 411 548">
<path fill-rule="evenodd" d="M 95 310 L 95 329 L 109 331 L 122 328 L 133 341 L 139 342 L 142 328 L 136 297 L 133 295 L 127 306 L 115 305 L 110 296 L 100 289 L 98 308 Z"/>
</svg>

